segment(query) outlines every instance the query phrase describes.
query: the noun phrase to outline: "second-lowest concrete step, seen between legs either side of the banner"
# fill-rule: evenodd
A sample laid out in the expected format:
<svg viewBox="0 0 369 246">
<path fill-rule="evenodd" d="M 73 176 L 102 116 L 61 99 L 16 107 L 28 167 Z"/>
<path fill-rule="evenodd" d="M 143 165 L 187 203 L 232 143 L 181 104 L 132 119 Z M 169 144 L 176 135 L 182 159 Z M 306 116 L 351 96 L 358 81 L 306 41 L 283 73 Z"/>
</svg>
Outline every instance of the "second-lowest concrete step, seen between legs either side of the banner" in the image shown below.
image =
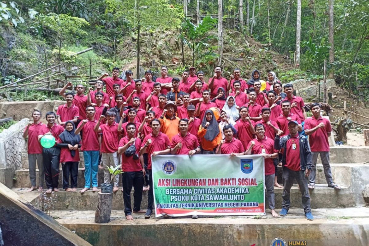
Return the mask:
<svg viewBox="0 0 369 246">
<path fill-rule="evenodd" d="M 19 190 L 13 188 L 13 190 L 22 196 L 27 193 L 27 189 Z M 81 189 L 78 189 L 78 191 Z M 86 191 L 84 194 L 80 192 L 66 192 L 59 191 L 58 202 L 55 204 L 55 209 L 75 209 L 75 210 L 93 210 L 97 204 L 97 192 L 92 190 Z M 283 188 L 275 188 L 275 206 L 276 208 L 282 208 L 282 193 Z M 38 191 L 32 191 L 31 193 L 40 194 Z M 291 188 L 291 207 L 301 208 L 301 193 L 297 185 Z M 28 194 L 27 194 L 28 195 Z M 131 193 L 133 198 L 133 191 Z M 124 209 L 122 192 L 118 191 L 114 193 L 113 209 Z M 326 184 L 315 185 L 314 190 L 310 190 L 311 208 L 341 208 L 341 207 L 355 207 L 354 195 L 349 188 L 344 187 L 342 190 L 334 190 L 327 187 Z M 36 199 L 31 201 L 35 204 Z M 133 204 L 133 203 L 132 203 Z M 147 207 L 147 192 L 143 193 L 141 208 Z M 266 199 L 266 208 L 269 208 L 268 201 Z"/>
</svg>

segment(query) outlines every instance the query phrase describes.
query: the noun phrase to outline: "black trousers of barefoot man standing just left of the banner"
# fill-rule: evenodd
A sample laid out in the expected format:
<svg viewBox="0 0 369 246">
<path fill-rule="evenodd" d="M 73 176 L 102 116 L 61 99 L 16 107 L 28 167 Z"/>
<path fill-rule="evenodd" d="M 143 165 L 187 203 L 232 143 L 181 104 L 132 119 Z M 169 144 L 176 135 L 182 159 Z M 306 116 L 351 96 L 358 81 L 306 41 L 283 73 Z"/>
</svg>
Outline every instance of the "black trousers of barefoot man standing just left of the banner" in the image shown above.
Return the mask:
<svg viewBox="0 0 369 246">
<path fill-rule="evenodd" d="M 142 188 L 144 187 L 144 175 L 142 171 L 124 172 L 123 173 L 123 201 L 124 201 L 124 214 L 125 216 L 132 214 L 131 207 L 131 191 L 134 187 L 133 193 L 133 211 L 138 212 L 141 210 L 142 201 Z"/>
</svg>

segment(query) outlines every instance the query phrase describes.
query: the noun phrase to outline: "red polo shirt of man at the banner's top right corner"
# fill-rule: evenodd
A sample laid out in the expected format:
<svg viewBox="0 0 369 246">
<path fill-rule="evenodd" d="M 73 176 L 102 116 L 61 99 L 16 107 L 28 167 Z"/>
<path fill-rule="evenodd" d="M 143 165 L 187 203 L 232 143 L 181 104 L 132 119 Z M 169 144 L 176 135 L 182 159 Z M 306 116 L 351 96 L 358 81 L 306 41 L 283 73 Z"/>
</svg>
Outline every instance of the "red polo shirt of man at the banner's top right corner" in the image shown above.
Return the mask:
<svg viewBox="0 0 369 246">
<path fill-rule="evenodd" d="M 252 139 L 255 142 L 255 145 L 251 149 L 251 153 L 258 155 L 258 154 L 268 154 L 272 155 L 273 153 L 277 153 L 278 150 L 274 149 L 274 138 L 268 138 L 265 136 L 263 139 L 259 140 L 258 138 Z M 251 141 L 249 142 L 247 149 L 250 147 Z M 270 175 L 275 173 L 275 167 L 273 164 L 272 158 L 264 159 L 265 164 L 265 175 Z"/>
</svg>

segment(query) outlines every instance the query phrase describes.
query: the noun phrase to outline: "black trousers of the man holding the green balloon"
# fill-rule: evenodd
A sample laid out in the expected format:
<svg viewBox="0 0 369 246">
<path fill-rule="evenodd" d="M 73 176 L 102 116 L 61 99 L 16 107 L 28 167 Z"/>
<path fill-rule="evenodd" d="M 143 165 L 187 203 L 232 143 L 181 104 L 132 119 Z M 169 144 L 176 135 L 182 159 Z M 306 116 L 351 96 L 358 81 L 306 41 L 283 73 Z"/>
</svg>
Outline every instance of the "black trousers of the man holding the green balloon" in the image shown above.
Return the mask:
<svg viewBox="0 0 369 246">
<path fill-rule="evenodd" d="M 45 170 L 45 181 L 48 189 L 58 188 L 60 149 L 57 147 L 43 148 L 42 157 Z"/>
</svg>

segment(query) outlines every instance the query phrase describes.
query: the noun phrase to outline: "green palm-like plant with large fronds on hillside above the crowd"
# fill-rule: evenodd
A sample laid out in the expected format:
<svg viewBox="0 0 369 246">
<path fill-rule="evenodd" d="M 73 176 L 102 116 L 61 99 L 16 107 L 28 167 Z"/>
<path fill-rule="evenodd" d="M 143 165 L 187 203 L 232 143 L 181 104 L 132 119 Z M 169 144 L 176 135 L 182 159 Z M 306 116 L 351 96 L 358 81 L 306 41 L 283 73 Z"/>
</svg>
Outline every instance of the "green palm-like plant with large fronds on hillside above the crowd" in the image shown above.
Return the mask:
<svg viewBox="0 0 369 246">
<path fill-rule="evenodd" d="M 208 44 L 208 42 L 217 38 L 215 35 L 208 34 L 217 22 L 216 19 L 210 16 L 204 17 L 199 25 L 193 24 L 189 19 L 182 22 L 180 39 L 191 50 L 192 66 L 195 65 L 195 57 L 201 57 L 205 61 L 217 57 L 217 54 L 213 51 L 213 47 Z"/>
</svg>

